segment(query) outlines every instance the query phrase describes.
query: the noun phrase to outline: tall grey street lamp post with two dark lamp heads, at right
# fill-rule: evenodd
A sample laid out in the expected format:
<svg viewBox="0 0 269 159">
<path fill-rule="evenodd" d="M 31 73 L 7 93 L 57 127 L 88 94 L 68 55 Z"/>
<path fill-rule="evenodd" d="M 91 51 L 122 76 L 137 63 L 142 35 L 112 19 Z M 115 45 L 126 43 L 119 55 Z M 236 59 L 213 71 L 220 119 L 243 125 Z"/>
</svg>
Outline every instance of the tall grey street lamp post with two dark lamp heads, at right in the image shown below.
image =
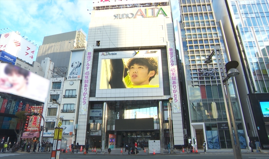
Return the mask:
<svg viewBox="0 0 269 159">
<path fill-rule="evenodd" d="M 211 54 L 209 55 L 209 57 L 206 58 L 206 60 L 204 61 L 204 63 L 211 63 L 212 62 L 212 56 L 216 53 L 216 59 L 217 59 L 217 66 L 218 66 L 218 71 L 219 74 L 221 75 L 221 88 L 222 88 L 222 92 L 223 93 L 223 98 L 224 98 L 224 103 L 225 103 L 225 109 L 226 109 L 226 115 L 227 115 L 227 121 L 228 121 L 228 126 L 229 126 L 229 131 L 230 131 L 230 136 L 231 136 L 231 141 L 232 141 L 232 148 L 233 148 L 233 152 L 234 152 L 234 158 L 235 159 L 242 159 L 242 154 L 241 154 L 241 150 L 240 150 L 240 142 L 239 142 L 239 138 L 238 138 L 238 133 L 237 133 L 237 129 L 236 129 L 236 124 L 235 124 L 235 120 L 234 120 L 234 113 L 232 110 L 232 103 L 231 103 L 231 99 L 230 99 L 230 91 L 229 91 L 229 86 L 228 86 L 228 79 L 231 77 L 235 77 L 239 74 L 238 70 L 236 70 L 236 67 L 238 66 L 238 62 L 237 61 L 230 61 L 228 62 L 225 66 L 226 66 L 226 70 L 227 70 L 227 75 L 223 66 L 223 60 L 222 60 L 222 56 L 219 53 L 220 47 L 219 46 L 215 46 L 213 52 L 211 52 Z M 219 66 L 219 58 L 220 58 L 220 63 L 221 63 L 221 67 Z M 224 78 L 222 79 L 222 74 L 224 76 Z M 227 101 L 225 100 L 225 91 L 224 91 L 224 85 L 226 87 L 226 93 L 227 93 L 227 97 L 228 97 L 228 103 L 229 103 L 229 109 L 228 110 L 228 106 L 227 106 Z M 229 111 L 230 111 L 230 115 L 229 115 Z M 230 118 L 232 119 L 232 125 L 234 128 L 234 136 L 235 136 L 235 140 L 236 143 L 234 142 L 234 136 L 233 136 L 233 132 L 232 132 L 232 125 L 230 122 Z"/>
</svg>

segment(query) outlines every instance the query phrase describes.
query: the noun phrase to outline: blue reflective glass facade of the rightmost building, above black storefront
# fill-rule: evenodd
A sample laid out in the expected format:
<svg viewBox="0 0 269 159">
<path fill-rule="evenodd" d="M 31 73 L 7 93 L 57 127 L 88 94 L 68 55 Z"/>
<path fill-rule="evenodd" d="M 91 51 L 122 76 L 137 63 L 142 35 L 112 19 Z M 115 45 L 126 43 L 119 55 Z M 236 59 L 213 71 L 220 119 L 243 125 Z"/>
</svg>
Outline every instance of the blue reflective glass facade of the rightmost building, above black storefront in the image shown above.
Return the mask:
<svg viewBox="0 0 269 159">
<path fill-rule="evenodd" d="M 268 0 L 230 1 L 241 34 L 244 56 L 257 85 L 256 92 L 269 93 Z"/>
</svg>

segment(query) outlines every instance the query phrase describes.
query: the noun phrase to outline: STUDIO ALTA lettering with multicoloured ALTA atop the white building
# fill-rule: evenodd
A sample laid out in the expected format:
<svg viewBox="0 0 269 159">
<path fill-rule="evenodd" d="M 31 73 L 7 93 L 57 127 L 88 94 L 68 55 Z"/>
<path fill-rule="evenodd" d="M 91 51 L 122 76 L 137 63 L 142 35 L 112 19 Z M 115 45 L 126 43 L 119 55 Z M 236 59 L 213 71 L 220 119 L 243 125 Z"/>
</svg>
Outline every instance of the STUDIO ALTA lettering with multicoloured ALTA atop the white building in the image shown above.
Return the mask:
<svg viewBox="0 0 269 159">
<path fill-rule="evenodd" d="M 164 12 L 162 7 L 160 8 L 146 8 L 143 12 L 142 9 L 138 9 L 137 12 L 134 13 L 122 13 L 122 14 L 115 14 L 113 15 L 114 19 L 124 19 L 124 18 L 136 18 L 137 16 L 142 16 L 143 18 L 149 18 L 149 17 L 158 17 L 158 15 L 164 15 L 167 17 L 167 14 Z"/>
</svg>

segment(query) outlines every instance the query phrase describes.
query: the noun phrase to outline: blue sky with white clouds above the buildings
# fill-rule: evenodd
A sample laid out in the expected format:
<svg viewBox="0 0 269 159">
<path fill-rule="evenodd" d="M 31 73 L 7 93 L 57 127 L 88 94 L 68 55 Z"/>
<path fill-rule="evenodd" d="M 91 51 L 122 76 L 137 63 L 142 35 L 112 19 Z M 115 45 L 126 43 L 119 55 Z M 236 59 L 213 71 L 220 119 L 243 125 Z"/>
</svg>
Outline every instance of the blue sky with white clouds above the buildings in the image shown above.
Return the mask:
<svg viewBox="0 0 269 159">
<path fill-rule="evenodd" d="M 92 1 L 22 1 L 0 0 L 0 29 L 18 31 L 21 36 L 42 45 L 44 36 L 71 32 L 82 28 L 88 34 Z M 176 19 L 180 21 L 179 1 L 171 0 L 176 44 Z M 1 31 L 1 34 L 6 31 Z M 178 49 L 178 48 L 177 48 Z M 34 58 L 35 60 L 35 58 Z"/>
</svg>

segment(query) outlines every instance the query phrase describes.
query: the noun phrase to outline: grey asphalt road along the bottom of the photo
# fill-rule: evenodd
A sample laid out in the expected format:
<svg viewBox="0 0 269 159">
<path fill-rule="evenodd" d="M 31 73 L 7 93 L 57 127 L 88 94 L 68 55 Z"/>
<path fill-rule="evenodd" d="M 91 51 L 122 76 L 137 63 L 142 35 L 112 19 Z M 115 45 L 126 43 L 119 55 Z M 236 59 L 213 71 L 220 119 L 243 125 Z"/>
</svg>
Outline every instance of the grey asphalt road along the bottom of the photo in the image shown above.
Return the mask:
<svg viewBox="0 0 269 159">
<path fill-rule="evenodd" d="M 201 153 L 201 154 L 171 154 L 171 155 L 102 155 L 102 154 L 70 154 L 61 153 L 60 159 L 232 159 L 232 153 Z M 1 159 L 50 159 L 48 153 L 1 153 Z M 269 154 L 265 153 L 244 153 L 243 159 L 268 159 Z"/>
</svg>

